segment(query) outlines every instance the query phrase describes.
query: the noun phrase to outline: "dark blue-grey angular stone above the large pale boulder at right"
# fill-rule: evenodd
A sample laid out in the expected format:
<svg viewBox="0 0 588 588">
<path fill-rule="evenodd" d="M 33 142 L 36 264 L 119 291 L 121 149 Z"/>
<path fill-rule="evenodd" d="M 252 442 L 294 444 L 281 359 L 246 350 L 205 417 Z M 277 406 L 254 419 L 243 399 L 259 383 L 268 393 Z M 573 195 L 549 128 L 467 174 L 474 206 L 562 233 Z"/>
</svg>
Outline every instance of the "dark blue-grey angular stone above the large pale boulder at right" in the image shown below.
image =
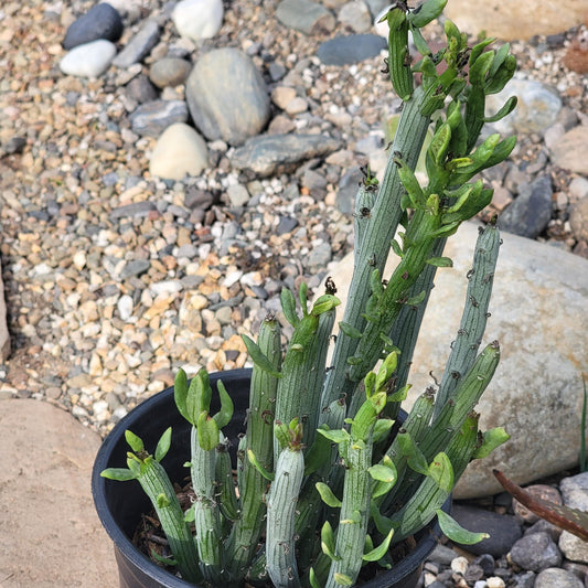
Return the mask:
<svg viewBox="0 0 588 588">
<path fill-rule="evenodd" d="M 499 227 L 522 237 L 537 237 L 552 218 L 552 194 L 549 175 L 520 185 L 518 196 L 499 217 Z"/>
</svg>

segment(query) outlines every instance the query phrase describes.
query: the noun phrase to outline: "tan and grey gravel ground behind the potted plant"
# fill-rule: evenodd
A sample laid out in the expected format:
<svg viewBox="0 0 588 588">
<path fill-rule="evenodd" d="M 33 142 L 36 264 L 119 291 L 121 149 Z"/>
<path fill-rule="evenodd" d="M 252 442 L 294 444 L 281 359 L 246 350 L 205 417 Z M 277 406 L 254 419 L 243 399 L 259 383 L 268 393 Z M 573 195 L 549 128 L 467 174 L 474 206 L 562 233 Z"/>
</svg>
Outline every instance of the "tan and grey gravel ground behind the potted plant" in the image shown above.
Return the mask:
<svg viewBox="0 0 588 588">
<path fill-rule="evenodd" d="M 280 83 L 297 87 L 307 109 L 280 113 L 274 130 L 321 131 L 344 148 L 291 177 L 256 181 L 233 170 L 229 148 L 216 141 L 209 146 L 214 168 L 162 182 L 147 171 L 154 139 L 130 129 L 127 74 L 111 67 L 87 81 L 57 67 L 67 24 L 93 3 L 76 0 L 61 11 L 61 2 L 9 1 L 0 9 L 8 74 L 0 81 L 1 256 L 13 348 L 0 366 L 0 395 L 56 403 L 106 435 L 170 385 L 179 366 L 245 365 L 239 334 L 277 310 L 282 286 L 318 286 L 350 250 L 351 217 L 335 206 L 339 182 L 366 163 L 361 141 L 383 140 L 382 120 L 398 101 L 381 58 L 321 65 L 314 55 L 328 36 L 278 25 L 275 0 L 263 8 L 258 0 L 225 2 L 221 33 L 193 55 L 240 47 L 270 89 L 269 64 L 284 66 Z M 178 38 L 164 18 L 169 4 L 135 6 L 122 42 L 148 15 L 165 22 L 147 72 Z M 568 111 L 586 113 L 586 77 L 559 65 L 573 33 L 553 46 L 545 39 L 514 42 L 513 51 L 524 74 L 557 87 Z M 183 97 L 183 87 L 168 92 Z M 513 161 L 541 161 L 543 149 L 542 137 L 523 136 Z M 566 200 L 539 239 L 582 254 L 567 224 L 570 177 L 548 161 L 543 168 Z M 239 183 L 247 205 L 234 196 Z"/>
</svg>

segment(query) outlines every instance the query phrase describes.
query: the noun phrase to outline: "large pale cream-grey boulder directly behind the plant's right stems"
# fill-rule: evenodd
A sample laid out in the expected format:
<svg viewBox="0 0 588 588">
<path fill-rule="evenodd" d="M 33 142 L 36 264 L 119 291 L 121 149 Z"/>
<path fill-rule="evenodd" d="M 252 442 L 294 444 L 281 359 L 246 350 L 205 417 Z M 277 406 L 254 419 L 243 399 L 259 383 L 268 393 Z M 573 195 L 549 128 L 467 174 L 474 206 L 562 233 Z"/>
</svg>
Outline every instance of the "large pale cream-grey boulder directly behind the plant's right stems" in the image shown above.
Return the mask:
<svg viewBox="0 0 588 588">
<path fill-rule="evenodd" d="M 443 255 L 453 268 L 437 271 L 408 378 L 413 389 L 407 407 L 432 384 L 430 371 L 441 377 L 459 329 L 462 304 L 456 301 L 466 298 L 477 233 L 473 223 L 466 223 L 448 240 Z M 455 491 L 460 499 L 500 492 L 493 468 L 525 484 L 578 462 L 588 260 L 507 233 L 502 238 L 484 336 L 484 342 L 500 341 L 501 364 L 475 410 L 482 430 L 502 426 L 511 439 L 468 467 Z M 396 260 L 391 256 L 384 277 Z M 342 299 L 352 268 L 349 255 L 330 272 Z"/>
</svg>

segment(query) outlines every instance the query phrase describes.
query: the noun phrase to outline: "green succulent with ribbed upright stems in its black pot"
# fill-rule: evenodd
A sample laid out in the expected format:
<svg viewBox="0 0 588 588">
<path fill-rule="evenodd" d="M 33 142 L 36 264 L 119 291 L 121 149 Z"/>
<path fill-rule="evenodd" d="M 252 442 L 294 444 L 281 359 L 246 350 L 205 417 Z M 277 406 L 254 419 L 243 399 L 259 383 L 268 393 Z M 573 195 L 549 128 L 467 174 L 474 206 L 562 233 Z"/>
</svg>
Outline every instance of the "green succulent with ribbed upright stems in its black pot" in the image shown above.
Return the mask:
<svg viewBox="0 0 588 588">
<path fill-rule="evenodd" d="M 252 372 L 200 371 L 190 382 L 179 371 L 173 389 L 139 405 L 106 439 L 94 493 L 117 545 L 122 587 L 408 587 L 435 543 L 423 530 L 436 516 L 460 543 L 480 539 L 441 507 L 469 461 L 507 439 L 501 428 L 482 435 L 473 411 L 500 356 L 496 342 L 479 352 L 500 245 L 494 224 L 480 231 L 461 327 L 438 389 L 400 413 L 435 272 L 451 265 L 445 242 L 491 202 L 492 190 L 472 178 L 515 145 L 498 135 L 479 141 L 484 121 L 516 103 L 511 98 L 484 118 L 485 96 L 514 72 L 509 45 L 494 51 L 485 39 L 470 47 L 447 20 L 447 45 L 432 54 L 420 29 L 446 1 L 426 0 L 415 10 L 398 1 L 385 17 L 387 68 L 403 110 L 382 183 L 367 170 L 357 191 L 354 272 L 336 338 L 340 302 L 331 280 L 313 304 L 304 286 L 299 304 L 284 290 L 293 330 L 285 351 L 280 323 L 268 316 L 256 341 L 244 335 Z M 421 55 L 414 65 L 409 32 Z M 413 170 L 431 125 L 421 186 Z M 391 249 L 400 259 L 384 276 Z M 188 474 L 185 506 L 171 480 Z M 175 575 L 130 545 L 149 507 L 169 547 L 156 559 Z M 415 537 L 429 543 L 406 564 L 395 547 L 410 550 Z M 384 575 L 370 584 L 377 569 Z"/>
</svg>

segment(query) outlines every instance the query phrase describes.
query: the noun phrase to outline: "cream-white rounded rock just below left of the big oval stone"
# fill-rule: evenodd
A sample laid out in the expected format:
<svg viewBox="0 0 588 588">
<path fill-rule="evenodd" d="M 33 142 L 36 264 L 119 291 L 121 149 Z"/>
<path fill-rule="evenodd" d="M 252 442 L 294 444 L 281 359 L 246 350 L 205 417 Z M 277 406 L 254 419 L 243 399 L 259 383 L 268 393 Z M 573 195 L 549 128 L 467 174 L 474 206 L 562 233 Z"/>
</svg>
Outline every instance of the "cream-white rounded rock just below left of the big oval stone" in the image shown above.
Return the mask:
<svg viewBox="0 0 588 588">
<path fill-rule="evenodd" d="M 184 122 L 170 125 L 158 139 L 151 153 L 149 172 L 167 180 L 199 175 L 209 164 L 204 139 Z"/>
</svg>

